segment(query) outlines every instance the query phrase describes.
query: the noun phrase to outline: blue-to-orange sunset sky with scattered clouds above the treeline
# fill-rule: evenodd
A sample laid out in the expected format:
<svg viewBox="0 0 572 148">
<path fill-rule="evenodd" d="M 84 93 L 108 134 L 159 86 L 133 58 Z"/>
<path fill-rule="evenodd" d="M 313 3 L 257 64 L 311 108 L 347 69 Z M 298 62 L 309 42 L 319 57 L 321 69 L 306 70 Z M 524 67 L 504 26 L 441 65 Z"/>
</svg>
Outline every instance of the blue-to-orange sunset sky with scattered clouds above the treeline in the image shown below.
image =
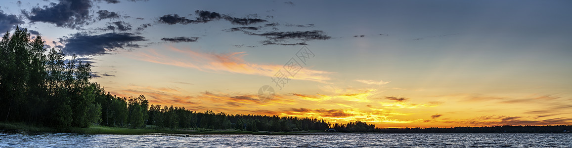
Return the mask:
<svg viewBox="0 0 572 148">
<path fill-rule="evenodd" d="M 106 91 L 155 105 L 376 127 L 571 125 L 571 6 L 1 1 L 0 32 L 41 35 L 92 63 Z"/>
</svg>

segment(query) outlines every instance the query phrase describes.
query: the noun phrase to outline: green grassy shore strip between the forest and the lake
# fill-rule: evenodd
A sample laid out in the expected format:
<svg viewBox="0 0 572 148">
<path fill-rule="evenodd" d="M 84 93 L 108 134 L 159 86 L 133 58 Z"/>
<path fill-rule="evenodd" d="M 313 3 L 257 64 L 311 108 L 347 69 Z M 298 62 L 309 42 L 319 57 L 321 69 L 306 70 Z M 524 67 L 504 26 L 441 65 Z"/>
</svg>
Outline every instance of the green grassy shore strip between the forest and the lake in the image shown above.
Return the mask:
<svg viewBox="0 0 572 148">
<path fill-rule="evenodd" d="M 0 122 L 0 129 L 31 131 L 31 132 L 53 132 L 53 133 L 83 133 L 83 134 L 123 134 L 123 135 L 140 135 L 140 134 L 264 134 L 264 135 L 284 135 L 297 134 L 300 132 L 270 132 L 270 131 L 241 131 L 235 129 L 212 130 L 212 129 L 168 129 L 157 126 L 146 126 L 144 129 L 130 129 L 125 127 L 109 127 L 94 125 L 87 128 L 69 127 L 67 129 L 53 129 L 50 127 L 28 125 L 26 123 L 5 123 Z M 313 133 L 313 132 L 310 132 Z"/>
</svg>

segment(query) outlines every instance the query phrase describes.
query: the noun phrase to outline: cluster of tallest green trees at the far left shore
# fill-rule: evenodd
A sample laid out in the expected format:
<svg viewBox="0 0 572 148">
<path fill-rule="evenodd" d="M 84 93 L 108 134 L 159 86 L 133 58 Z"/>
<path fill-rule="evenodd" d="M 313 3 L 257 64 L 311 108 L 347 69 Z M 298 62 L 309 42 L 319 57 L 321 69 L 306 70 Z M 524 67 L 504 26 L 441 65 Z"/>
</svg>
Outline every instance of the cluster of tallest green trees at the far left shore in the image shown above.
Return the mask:
<svg viewBox="0 0 572 148">
<path fill-rule="evenodd" d="M 0 121 L 38 123 L 51 127 L 87 127 L 93 105 L 90 65 L 73 56 L 43 48 L 38 35 L 16 27 L 0 41 Z M 93 112 L 96 113 L 96 112 Z"/>
</svg>

